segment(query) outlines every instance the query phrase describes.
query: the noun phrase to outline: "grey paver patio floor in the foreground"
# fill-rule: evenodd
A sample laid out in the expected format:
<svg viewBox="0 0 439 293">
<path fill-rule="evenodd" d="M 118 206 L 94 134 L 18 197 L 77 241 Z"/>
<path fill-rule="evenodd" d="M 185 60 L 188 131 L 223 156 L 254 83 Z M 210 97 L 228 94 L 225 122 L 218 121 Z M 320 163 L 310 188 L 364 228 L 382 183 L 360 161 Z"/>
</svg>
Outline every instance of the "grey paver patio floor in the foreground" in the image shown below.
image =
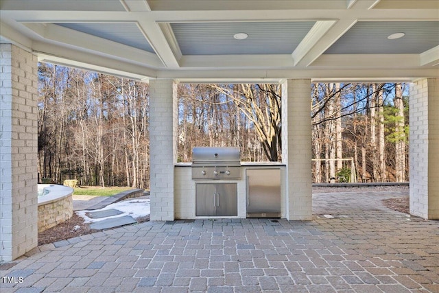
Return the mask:
<svg viewBox="0 0 439 293">
<path fill-rule="evenodd" d="M 383 207 L 394 196 L 314 194 L 307 222 L 146 222 L 56 242 L 3 270 L 1 292 L 439 292 L 439 221 Z"/>
</svg>

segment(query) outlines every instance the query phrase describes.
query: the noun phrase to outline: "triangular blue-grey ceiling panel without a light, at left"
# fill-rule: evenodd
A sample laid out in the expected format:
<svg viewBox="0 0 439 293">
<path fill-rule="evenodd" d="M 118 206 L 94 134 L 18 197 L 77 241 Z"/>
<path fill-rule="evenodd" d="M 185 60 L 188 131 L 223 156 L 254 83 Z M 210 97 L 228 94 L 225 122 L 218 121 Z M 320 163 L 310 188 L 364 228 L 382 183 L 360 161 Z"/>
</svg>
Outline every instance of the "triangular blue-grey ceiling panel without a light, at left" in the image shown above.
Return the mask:
<svg viewBox="0 0 439 293">
<path fill-rule="evenodd" d="M 55 23 L 99 38 L 154 53 L 136 23 Z"/>
</svg>

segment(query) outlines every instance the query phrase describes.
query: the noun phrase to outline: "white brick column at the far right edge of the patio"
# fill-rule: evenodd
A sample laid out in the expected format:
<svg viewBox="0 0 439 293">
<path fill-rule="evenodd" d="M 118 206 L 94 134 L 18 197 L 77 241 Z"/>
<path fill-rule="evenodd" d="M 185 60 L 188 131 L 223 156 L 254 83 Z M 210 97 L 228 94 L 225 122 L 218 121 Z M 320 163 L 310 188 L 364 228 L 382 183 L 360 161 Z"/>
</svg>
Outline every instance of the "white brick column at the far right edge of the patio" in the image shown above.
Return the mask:
<svg viewBox="0 0 439 293">
<path fill-rule="evenodd" d="M 439 219 L 439 79 L 410 89 L 410 213 Z"/>
</svg>

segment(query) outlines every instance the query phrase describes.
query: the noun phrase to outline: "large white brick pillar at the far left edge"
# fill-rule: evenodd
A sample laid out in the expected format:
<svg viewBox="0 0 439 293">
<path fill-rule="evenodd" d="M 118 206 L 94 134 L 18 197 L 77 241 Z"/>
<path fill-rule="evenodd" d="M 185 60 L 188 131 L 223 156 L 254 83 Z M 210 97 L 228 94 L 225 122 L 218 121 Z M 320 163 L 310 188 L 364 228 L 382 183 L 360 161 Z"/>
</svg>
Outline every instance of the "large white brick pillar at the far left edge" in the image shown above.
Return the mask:
<svg viewBox="0 0 439 293">
<path fill-rule="evenodd" d="M 38 244 L 36 56 L 0 44 L 0 261 Z"/>
</svg>

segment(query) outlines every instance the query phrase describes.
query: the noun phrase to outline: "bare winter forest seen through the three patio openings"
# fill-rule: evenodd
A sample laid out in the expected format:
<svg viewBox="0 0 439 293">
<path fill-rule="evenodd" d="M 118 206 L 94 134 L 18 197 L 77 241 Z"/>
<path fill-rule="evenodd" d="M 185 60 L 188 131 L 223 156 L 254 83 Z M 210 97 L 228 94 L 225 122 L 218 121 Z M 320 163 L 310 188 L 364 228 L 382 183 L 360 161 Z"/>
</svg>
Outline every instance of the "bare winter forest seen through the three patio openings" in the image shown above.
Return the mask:
<svg viewBox="0 0 439 293">
<path fill-rule="evenodd" d="M 147 83 L 47 63 L 38 78 L 40 182 L 149 188 Z M 407 180 L 407 87 L 311 84 L 313 182 Z M 179 84 L 178 161 L 195 146 L 281 161 L 281 98 L 280 84 Z"/>
</svg>

